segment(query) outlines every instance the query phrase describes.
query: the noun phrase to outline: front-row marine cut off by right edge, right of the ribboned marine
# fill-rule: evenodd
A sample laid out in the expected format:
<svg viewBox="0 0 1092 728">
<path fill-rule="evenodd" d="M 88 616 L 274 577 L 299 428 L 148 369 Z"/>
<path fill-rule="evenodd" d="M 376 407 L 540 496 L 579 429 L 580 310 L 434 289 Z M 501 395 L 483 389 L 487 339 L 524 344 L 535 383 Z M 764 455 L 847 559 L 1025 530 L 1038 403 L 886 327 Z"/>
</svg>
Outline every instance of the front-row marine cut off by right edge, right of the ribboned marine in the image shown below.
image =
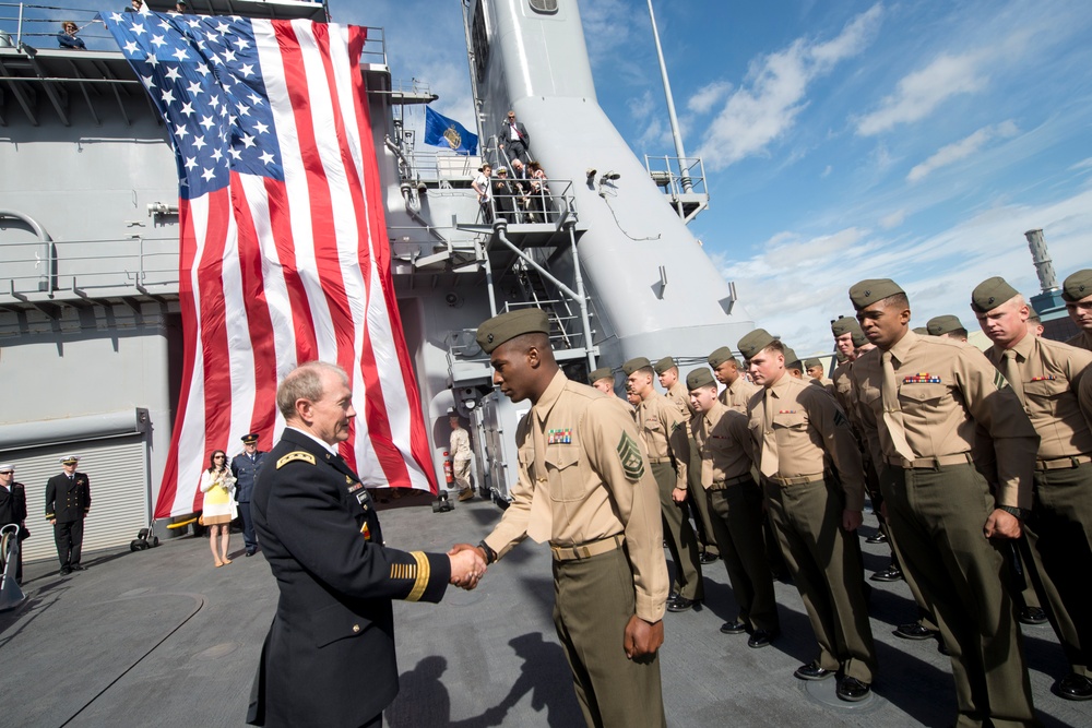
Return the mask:
<svg viewBox="0 0 1092 728">
<path fill-rule="evenodd" d="M 1032 578 L 1049 604 L 1047 614 L 1069 661 L 1057 684 L 1068 700 L 1092 699 L 1092 428 L 1078 401 L 1092 375 L 1092 351 L 1033 336 L 1029 307 L 1004 278 L 971 294 L 971 308 L 994 343 L 988 358 L 1004 374 L 1040 434 L 1035 488 L 1024 536 Z"/>
</svg>

